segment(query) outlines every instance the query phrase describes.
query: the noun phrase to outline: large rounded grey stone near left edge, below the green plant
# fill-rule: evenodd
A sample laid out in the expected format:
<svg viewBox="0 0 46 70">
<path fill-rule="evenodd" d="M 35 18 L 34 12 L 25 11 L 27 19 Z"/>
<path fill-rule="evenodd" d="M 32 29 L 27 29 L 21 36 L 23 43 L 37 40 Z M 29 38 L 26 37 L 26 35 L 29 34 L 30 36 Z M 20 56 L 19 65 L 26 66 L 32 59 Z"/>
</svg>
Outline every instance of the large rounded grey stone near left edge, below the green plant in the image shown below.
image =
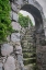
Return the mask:
<svg viewBox="0 0 46 70">
<path fill-rule="evenodd" d="M 3 44 L 1 46 L 2 56 L 10 55 L 12 51 L 13 51 L 13 46 L 11 46 L 10 44 Z"/>
</svg>

